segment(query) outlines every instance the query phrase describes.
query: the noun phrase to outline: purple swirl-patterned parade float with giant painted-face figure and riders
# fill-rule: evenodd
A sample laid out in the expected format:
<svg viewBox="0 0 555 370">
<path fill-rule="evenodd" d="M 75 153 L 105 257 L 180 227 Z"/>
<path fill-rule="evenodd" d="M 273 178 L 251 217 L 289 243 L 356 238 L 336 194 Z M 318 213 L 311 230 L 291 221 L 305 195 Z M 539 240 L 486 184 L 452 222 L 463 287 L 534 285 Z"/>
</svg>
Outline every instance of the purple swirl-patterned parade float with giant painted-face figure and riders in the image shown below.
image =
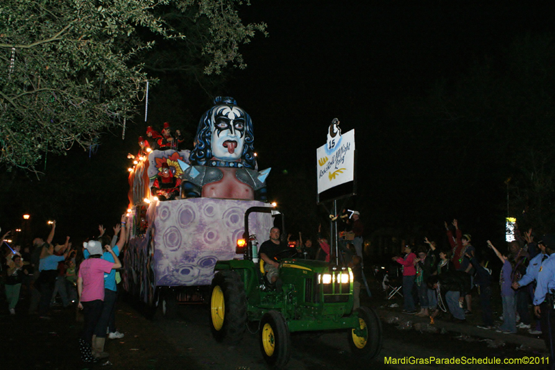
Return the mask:
<svg viewBox="0 0 555 370">
<path fill-rule="evenodd" d="M 229 97 L 218 97 L 201 117 L 194 148 L 181 149 L 180 133 L 164 124 L 139 137 L 130 168 L 128 215 L 133 228 L 123 257 L 123 289 L 148 307 L 198 301 L 218 260 L 235 251 L 244 215 L 266 203 L 266 176 L 258 171 L 250 116 Z M 255 213 L 250 233 L 266 239 L 271 215 Z"/>
</svg>

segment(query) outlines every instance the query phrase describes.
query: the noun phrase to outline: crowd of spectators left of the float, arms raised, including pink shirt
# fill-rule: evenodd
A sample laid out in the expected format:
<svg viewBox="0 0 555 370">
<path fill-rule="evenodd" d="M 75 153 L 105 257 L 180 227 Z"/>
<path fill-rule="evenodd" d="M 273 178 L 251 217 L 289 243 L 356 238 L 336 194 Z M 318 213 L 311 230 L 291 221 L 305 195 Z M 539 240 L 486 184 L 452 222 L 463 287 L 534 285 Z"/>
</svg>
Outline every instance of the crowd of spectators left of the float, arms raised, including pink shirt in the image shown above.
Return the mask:
<svg viewBox="0 0 555 370">
<path fill-rule="evenodd" d="M 0 271 L 7 309 L 11 316 L 37 315 L 51 320 L 51 311 L 83 310 L 83 332 L 78 338 L 80 356 L 84 362 L 96 362 L 108 357 L 105 339 L 123 337 L 115 324 L 115 305 L 119 278 L 119 253 L 126 245 L 129 225 L 126 217 L 114 227 L 113 237 L 105 235 L 99 226 L 97 239 L 87 239 L 80 246 L 65 237 L 63 244 L 53 244 L 56 221 L 46 237 L 35 237 L 31 244 L 10 245 L 0 239 Z M 28 312 L 22 312 L 26 300 Z"/>
</svg>

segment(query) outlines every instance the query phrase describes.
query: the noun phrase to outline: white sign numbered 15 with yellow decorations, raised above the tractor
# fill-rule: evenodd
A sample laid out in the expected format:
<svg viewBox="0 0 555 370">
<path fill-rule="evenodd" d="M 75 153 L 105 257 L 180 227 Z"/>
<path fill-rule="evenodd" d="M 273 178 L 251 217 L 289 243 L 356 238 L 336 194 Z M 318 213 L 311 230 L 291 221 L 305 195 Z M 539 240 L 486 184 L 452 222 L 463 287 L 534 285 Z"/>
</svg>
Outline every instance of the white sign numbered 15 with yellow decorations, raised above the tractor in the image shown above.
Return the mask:
<svg viewBox="0 0 555 370">
<path fill-rule="evenodd" d="M 316 149 L 318 194 L 355 180 L 355 130 L 341 135 L 332 124 L 325 145 Z"/>
</svg>

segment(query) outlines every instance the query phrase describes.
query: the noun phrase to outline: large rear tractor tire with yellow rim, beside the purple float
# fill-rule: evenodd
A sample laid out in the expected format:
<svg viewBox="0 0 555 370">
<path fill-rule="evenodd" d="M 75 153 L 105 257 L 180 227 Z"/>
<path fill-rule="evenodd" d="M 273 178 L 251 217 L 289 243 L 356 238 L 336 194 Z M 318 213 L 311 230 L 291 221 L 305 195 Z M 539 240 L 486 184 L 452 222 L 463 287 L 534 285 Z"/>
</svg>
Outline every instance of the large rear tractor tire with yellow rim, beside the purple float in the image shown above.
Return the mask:
<svg viewBox="0 0 555 370">
<path fill-rule="evenodd" d="M 247 323 L 247 296 L 241 276 L 219 271 L 210 287 L 210 328 L 217 342 L 237 344 Z"/>
</svg>

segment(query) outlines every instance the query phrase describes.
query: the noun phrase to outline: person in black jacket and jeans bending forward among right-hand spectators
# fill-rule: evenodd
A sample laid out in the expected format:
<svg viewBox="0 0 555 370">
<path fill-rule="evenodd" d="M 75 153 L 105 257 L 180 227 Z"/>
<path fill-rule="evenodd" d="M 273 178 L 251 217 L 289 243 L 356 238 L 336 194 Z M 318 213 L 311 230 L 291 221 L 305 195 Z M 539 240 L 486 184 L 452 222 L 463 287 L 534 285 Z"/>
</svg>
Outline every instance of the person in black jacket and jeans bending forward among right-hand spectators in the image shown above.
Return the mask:
<svg viewBox="0 0 555 370">
<path fill-rule="evenodd" d="M 447 312 L 447 303 L 453 321 L 466 322 L 463 301 L 464 296 L 470 292 L 470 275 L 465 271 L 448 271 L 445 274 L 430 276 L 427 283 L 430 289 L 436 289 L 438 292 L 438 304 L 443 312 Z"/>
</svg>

